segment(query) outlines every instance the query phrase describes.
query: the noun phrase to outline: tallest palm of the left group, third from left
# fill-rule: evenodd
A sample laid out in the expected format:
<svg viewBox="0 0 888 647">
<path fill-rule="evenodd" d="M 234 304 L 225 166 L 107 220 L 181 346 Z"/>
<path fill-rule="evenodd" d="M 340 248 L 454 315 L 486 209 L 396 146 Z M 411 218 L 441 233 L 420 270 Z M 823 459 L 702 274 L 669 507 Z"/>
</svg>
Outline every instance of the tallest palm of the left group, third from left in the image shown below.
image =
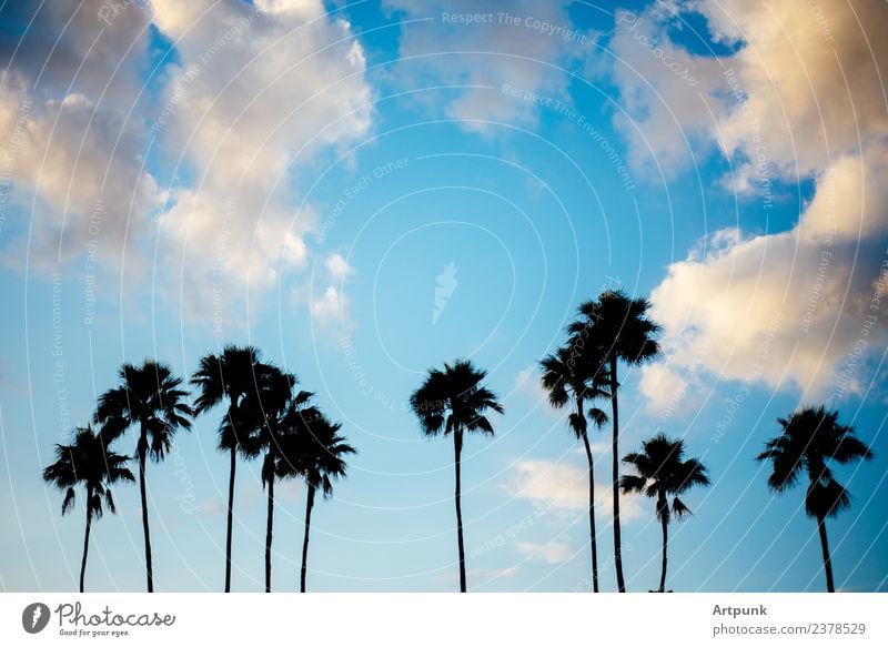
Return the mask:
<svg viewBox="0 0 888 647">
<path fill-rule="evenodd" d="M 206 413 L 223 401 L 228 411 L 219 425 L 219 448 L 228 452 L 229 512 L 225 527 L 225 593 L 231 592 L 231 540 L 234 525 L 234 473 L 238 468 L 238 452 L 244 452 L 249 429 L 239 424 L 241 402 L 256 388 L 255 371 L 262 353 L 254 346 L 226 345 L 219 355 L 208 354 L 200 361 L 191 384 L 198 388 L 194 415 Z M 244 428 L 241 428 L 244 427 Z"/>
</svg>

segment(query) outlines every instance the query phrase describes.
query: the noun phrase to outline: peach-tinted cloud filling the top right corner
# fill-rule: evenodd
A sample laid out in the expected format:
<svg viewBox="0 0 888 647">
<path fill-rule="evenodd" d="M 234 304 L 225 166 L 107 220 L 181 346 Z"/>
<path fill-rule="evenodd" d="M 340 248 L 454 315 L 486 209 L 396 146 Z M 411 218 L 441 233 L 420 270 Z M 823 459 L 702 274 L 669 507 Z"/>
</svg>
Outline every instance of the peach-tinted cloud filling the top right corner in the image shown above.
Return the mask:
<svg viewBox="0 0 888 647">
<path fill-rule="evenodd" d="M 726 153 L 755 162 L 764 151 L 793 176 L 821 171 L 836 155 L 888 134 L 881 74 L 888 12 L 880 0 L 694 7 L 716 38 L 741 46 L 723 61 L 744 95 L 719 119 Z"/>
</svg>

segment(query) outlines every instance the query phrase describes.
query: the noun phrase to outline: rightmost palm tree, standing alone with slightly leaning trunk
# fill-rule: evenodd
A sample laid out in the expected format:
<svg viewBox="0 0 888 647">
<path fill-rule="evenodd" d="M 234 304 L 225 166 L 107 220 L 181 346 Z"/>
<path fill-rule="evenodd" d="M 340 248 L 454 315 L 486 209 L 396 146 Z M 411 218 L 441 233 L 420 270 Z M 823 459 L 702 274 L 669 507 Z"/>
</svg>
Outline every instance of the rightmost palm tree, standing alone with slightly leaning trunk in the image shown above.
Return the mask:
<svg viewBox="0 0 888 647">
<path fill-rule="evenodd" d="M 826 589 L 829 593 L 834 593 L 836 587 L 833 582 L 826 519 L 849 508 L 851 498 L 848 491 L 835 479 L 827 463 L 835 461 L 839 465 L 847 465 L 872 458 L 869 447 L 860 442 L 852 427 L 839 424 L 838 416 L 837 411 L 818 406 L 797 411 L 789 418 L 778 418 L 783 428 L 780 435 L 768 441 L 765 451 L 756 456 L 757 461 L 770 461 L 768 486 L 777 494 L 796 485 L 803 471 L 807 473 L 805 512 L 817 519 Z"/>
</svg>

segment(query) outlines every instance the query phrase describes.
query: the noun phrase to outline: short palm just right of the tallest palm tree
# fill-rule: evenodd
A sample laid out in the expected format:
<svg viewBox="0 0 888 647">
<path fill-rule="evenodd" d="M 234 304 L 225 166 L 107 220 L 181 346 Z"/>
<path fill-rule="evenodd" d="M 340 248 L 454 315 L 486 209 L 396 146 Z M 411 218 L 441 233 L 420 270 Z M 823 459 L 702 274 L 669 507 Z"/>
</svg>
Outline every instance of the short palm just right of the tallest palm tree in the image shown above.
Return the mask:
<svg viewBox="0 0 888 647">
<path fill-rule="evenodd" d="M 685 461 L 685 442 L 673 441 L 659 433 L 645 441 L 642 452 L 627 454 L 623 462 L 635 467 L 636 474 L 626 474 L 619 482 L 624 493 L 639 492 L 657 499 L 657 518 L 663 529 L 663 563 L 657 593 L 666 590 L 666 547 L 669 540 L 669 520 L 675 515 L 683 519 L 690 509 L 678 498 L 695 485 L 709 485 L 706 467 L 697 458 Z M 669 509 L 672 497 L 672 509 Z"/>
</svg>

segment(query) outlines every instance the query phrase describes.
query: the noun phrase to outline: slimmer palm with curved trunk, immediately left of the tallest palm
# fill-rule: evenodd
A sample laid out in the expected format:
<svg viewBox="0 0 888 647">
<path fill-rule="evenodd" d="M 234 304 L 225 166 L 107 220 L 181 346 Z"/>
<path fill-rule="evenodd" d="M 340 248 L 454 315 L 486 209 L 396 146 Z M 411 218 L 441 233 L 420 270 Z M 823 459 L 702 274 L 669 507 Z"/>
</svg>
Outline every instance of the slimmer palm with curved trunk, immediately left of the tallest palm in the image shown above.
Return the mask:
<svg viewBox="0 0 888 647">
<path fill-rule="evenodd" d="M 578 441 L 583 441 L 586 449 L 589 475 L 589 538 L 592 546 L 592 590 L 598 593 L 598 549 L 595 532 L 595 472 L 589 445 L 588 423 L 586 419 L 585 402 L 596 397 L 607 396 L 604 391 L 602 372 L 588 371 L 591 363 L 581 361 L 578 350 L 571 346 L 558 348 L 555 354 L 547 355 L 539 363 L 543 388 L 548 394 L 548 402 L 555 408 L 563 408 L 573 403 L 574 411 L 567 418 L 567 424 Z M 589 416 L 593 424 L 601 428 L 607 422 L 607 414 L 599 408 L 591 408 Z"/>
</svg>

